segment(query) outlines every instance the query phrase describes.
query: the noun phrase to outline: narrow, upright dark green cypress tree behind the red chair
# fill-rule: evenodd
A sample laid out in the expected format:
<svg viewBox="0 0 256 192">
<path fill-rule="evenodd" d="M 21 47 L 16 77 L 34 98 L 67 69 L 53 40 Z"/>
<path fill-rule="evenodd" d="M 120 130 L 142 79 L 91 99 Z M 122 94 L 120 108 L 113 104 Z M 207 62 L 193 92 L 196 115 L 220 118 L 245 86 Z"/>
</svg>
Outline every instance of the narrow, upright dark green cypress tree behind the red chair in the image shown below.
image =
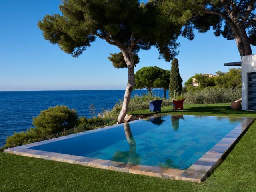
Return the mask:
<svg viewBox="0 0 256 192">
<path fill-rule="evenodd" d="M 172 60 L 172 67 L 170 72 L 170 89 L 169 96 L 174 96 L 174 94 L 180 95 L 182 92 L 182 78 L 180 76 L 179 61 L 174 58 Z"/>
</svg>

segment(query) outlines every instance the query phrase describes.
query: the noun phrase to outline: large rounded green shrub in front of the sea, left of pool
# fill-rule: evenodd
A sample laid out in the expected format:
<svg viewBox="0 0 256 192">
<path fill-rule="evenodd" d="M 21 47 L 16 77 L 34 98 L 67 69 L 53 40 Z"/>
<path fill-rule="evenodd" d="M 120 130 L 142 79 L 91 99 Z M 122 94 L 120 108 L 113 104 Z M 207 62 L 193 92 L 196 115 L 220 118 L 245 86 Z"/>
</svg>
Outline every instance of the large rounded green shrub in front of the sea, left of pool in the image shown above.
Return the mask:
<svg viewBox="0 0 256 192">
<path fill-rule="evenodd" d="M 73 128 L 77 124 L 76 110 L 70 110 L 67 106 L 54 106 L 33 118 L 33 125 L 38 134 L 54 134 L 62 130 Z"/>
</svg>

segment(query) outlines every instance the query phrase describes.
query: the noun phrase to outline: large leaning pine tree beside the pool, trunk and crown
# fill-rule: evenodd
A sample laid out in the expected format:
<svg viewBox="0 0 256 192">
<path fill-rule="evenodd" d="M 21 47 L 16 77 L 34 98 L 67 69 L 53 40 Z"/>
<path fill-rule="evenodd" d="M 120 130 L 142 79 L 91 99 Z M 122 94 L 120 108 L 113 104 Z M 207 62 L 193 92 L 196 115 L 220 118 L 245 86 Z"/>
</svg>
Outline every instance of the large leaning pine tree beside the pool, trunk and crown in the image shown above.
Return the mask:
<svg viewBox="0 0 256 192">
<path fill-rule="evenodd" d="M 161 1 L 146 4 L 138 0 L 63 0 L 62 14 L 46 15 L 38 22 L 44 38 L 74 57 L 100 38 L 120 49 L 128 70 L 128 83 L 118 122 L 122 122 L 135 84 L 134 56 L 155 46 L 170 61 L 189 13 L 166 13 Z M 170 19 L 171 18 L 171 19 Z"/>
</svg>

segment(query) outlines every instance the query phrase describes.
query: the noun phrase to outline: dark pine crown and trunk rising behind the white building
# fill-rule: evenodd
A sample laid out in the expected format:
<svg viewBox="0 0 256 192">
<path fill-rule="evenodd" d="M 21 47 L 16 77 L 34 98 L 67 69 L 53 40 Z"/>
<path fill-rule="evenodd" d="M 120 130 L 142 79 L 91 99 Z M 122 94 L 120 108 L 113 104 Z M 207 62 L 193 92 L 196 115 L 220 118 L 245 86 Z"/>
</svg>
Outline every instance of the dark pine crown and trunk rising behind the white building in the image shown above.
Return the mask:
<svg viewBox="0 0 256 192">
<path fill-rule="evenodd" d="M 212 26 L 215 36 L 235 40 L 241 56 L 252 54 L 256 45 L 256 0 L 170 0 L 180 9 L 191 10 L 191 19 L 182 35 L 191 40 L 193 29 L 207 32 Z M 182 4 L 182 2 L 184 4 Z"/>
</svg>

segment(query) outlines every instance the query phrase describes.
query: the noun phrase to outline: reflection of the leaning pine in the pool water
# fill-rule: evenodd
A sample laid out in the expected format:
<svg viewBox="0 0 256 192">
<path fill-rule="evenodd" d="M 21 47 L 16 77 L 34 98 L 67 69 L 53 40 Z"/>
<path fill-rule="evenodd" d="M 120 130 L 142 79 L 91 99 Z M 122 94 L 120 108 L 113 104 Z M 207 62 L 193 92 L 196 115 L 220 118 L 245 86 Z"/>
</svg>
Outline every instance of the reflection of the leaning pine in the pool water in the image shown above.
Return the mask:
<svg viewBox="0 0 256 192">
<path fill-rule="evenodd" d="M 129 123 L 124 123 L 124 132 L 126 136 L 126 140 L 129 143 L 129 151 L 121 151 L 117 150 L 112 160 L 119 162 L 127 162 L 131 164 L 139 164 L 140 163 L 140 155 L 136 154 L 136 142 L 134 137 L 132 136 L 132 131 L 130 129 Z"/>
</svg>

